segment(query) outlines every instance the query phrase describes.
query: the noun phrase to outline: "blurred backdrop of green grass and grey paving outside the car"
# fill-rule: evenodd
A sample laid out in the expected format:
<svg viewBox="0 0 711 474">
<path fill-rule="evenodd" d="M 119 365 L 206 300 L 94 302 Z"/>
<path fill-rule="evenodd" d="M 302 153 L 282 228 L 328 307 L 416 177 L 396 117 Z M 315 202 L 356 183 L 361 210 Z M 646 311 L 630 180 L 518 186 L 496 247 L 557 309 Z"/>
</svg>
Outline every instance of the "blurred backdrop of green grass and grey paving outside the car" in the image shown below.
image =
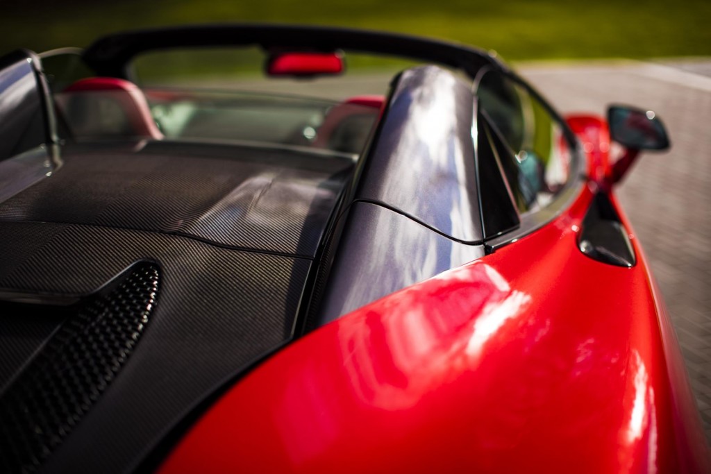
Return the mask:
<svg viewBox="0 0 711 474">
<path fill-rule="evenodd" d="M 562 112 L 654 109 L 673 147 L 641 158 L 619 198 L 677 330 L 711 440 L 711 1 L 34 0 L 2 7 L 0 54 L 83 47 L 114 31 L 186 23 L 336 25 L 496 50 Z"/>
</svg>

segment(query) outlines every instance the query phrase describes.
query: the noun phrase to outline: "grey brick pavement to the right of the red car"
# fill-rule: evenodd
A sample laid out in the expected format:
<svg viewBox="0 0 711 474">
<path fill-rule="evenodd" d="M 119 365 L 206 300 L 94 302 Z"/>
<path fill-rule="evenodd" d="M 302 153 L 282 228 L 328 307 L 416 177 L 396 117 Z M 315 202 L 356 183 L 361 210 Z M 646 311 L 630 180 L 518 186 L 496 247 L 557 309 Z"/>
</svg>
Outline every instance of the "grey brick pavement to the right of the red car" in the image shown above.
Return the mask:
<svg viewBox="0 0 711 474">
<path fill-rule="evenodd" d="M 517 70 L 561 112 L 624 103 L 665 122 L 672 148 L 642 156 L 617 195 L 669 308 L 711 443 L 711 60 Z"/>
</svg>

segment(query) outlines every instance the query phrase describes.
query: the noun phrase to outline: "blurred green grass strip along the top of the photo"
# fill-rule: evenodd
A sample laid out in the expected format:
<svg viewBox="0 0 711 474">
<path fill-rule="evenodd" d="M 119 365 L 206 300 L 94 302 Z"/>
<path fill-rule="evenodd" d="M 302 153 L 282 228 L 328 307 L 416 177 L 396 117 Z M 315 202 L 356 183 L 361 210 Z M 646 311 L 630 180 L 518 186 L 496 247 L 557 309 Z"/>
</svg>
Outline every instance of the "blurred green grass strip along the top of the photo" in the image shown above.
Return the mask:
<svg viewBox="0 0 711 474">
<path fill-rule="evenodd" d="M 432 36 L 493 49 L 508 60 L 711 55 L 709 0 L 44 0 L 33 10 L 5 12 L 0 53 L 85 46 L 127 29 L 266 21 Z"/>
</svg>

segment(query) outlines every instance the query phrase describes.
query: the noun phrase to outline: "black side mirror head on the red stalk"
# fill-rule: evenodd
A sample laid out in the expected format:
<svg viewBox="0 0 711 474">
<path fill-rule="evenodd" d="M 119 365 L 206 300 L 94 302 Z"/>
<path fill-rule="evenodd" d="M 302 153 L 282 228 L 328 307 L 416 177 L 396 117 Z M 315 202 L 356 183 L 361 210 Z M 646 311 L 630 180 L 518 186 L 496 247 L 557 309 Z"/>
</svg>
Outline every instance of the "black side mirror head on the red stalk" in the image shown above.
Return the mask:
<svg viewBox="0 0 711 474">
<path fill-rule="evenodd" d="M 651 110 L 626 105 L 611 105 L 607 109 L 610 139 L 627 149 L 665 150 L 669 139 L 661 120 Z"/>
</svg>

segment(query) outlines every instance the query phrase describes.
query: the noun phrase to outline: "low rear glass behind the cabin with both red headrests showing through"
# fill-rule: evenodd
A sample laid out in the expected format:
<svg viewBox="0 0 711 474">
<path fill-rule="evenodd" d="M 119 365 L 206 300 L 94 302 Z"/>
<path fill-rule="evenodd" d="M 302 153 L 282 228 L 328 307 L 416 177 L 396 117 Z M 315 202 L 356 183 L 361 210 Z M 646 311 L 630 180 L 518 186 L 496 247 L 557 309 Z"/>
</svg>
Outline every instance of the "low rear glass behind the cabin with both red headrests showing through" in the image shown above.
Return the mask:
<svg viewBox="0 0 711 474">
<path fill-rule="evenodd" d="M 306 146 L 357 155 L 378 119 L 381 97 L 343 102 L 244 92 L 139 89 L 88 79 L 55 95 L 74 139 L 171 139 Z M 108 80 L 108 79 L 106 79 Z"/>
</svg>

